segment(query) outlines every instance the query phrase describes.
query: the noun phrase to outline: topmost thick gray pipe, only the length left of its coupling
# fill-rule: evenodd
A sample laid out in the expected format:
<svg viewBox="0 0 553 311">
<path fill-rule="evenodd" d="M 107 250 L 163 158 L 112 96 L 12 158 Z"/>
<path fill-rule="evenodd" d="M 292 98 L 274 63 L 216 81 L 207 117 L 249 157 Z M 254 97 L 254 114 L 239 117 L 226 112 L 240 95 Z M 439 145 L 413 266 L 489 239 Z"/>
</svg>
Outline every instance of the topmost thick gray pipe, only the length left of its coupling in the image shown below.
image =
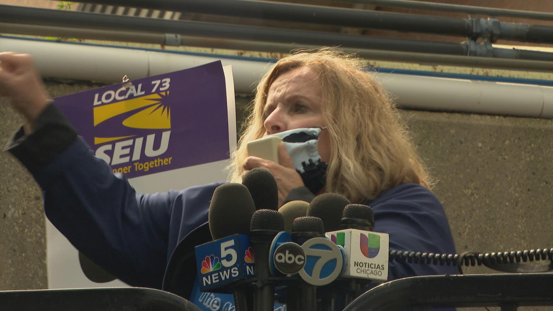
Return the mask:
<svg viewBox="0 0 553 311">
<path fill-rule="evenodd" d="M 86 3 L 343 27 L 409 30 L 411 32 L 461 37 L 467 37 L 471 33 L 471 23 L 462 18 L 375 12 L 258 0 L 87 0 Z"/>
</svg>

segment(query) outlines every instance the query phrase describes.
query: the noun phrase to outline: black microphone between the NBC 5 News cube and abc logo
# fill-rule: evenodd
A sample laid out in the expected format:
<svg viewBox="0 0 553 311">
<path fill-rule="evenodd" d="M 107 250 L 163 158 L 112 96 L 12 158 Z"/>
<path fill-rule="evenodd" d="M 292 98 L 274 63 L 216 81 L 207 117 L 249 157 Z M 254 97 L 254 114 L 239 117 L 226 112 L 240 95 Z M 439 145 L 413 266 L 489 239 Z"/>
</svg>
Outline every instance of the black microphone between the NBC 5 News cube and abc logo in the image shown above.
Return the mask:
<svg viewBox="0 0 553 311">
<path fill-rule="evenodd" d="M 255 311 L 273 311 L 275 292 L 269 283 L 269 250 L 274 237 L 284 229 L 284 219 L 276 210 L 260 209 L 253 213 L 250 236 L 255 258 Z"/>
</svg>

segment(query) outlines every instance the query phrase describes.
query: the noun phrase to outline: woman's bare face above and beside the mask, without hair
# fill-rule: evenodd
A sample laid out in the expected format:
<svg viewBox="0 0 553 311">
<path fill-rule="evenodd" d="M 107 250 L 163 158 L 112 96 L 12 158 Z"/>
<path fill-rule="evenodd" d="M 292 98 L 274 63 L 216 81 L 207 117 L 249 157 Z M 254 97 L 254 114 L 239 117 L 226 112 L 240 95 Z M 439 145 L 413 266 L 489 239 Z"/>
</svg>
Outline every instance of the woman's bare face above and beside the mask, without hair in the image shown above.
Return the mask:
<svg viewBox="0 0 553 311">
<path fill-rule="evenodd" d="M 319 74 L 310 68 L 296 68 L 279 75 L 269 87 L 263 111 L 264 136 L 295 128 L 325 127 L 321 111 Z M 319 154 L 328 163 L 330 138 L 319 134 Z"/>
</svg>

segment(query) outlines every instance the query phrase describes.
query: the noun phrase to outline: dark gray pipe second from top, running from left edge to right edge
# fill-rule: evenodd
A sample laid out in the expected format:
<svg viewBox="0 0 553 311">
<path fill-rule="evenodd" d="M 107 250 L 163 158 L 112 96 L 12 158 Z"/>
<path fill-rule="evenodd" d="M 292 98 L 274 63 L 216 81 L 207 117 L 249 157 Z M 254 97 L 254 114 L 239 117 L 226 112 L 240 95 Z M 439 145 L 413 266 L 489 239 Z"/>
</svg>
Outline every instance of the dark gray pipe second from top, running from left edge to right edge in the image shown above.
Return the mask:
<svg viewBox="0 0 553 311">
<path fill-rule="evenodd" d="M 224 38 L 248 41 L 299 43 L 316 46 L 345 46 L 347 48 L 373 48 L 381 50 L 408 51 L 415 53 L 495 56 L 528 60 L 553 60 L 553 53 L 497 49 L 489 53 L 488 46 L 468 43 L 429 42 L 423 40 L 392 39 L 312 32 L 268 27 L 229 25 L 220 23 L 191 22 L 158 18 L 129 17 L 98 13 L 61 11 L 0 5 L 0 22 L 21 23 L 75 28 L 132 30 L 148 33 L 180 34 L 191 37 Z M 239 48 L 237 46 L 237 48 Z M 497 56 L 496 56 L 497 57 Z"/>
</svg>

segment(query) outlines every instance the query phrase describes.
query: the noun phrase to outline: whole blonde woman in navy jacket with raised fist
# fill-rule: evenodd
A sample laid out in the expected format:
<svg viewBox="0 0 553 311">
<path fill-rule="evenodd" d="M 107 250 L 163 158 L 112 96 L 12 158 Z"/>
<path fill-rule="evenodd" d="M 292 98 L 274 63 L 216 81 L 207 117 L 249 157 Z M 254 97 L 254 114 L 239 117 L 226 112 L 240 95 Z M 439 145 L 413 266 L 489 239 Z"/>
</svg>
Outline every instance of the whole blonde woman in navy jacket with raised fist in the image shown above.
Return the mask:
<svg viewBox="0 0 553 311">
<path fill-rule="evenodd" d="M 0 53 L 0 95 L 10 97 L 27 121 L 8 151 L 42 188 L 50 221 L 122 281 L 161 288 L 175 249 L 198 241 L 191 232 L 207 222 L 211 196 L 222 183 L 135 193 L 50 105 L 29 55 Z M 374 231 L 389 234 L 391 250 L 455 253 L 444 209 L 430 191 L 405 126 L 360 60 L 329 49 L 279 60 L 259 82 L 246 124 L 233 154 L 234 182 L 264 167 L 276 179 L 279 206 L 322 193 L 342 194 L 352 203 L 372 206 Z M 269 135 L 284 138 L 279 163 L 248 156 L 246 144 Z M 305 143 L 309 152 L 294 153 L 290 143 Z M 309 170 L 302 172 L 295 163 Z M 446 273 L 456 269 L 390 262 L 388 279 Z M 190 292 L 180 294 L 189 297 Z"/>
</svg>

